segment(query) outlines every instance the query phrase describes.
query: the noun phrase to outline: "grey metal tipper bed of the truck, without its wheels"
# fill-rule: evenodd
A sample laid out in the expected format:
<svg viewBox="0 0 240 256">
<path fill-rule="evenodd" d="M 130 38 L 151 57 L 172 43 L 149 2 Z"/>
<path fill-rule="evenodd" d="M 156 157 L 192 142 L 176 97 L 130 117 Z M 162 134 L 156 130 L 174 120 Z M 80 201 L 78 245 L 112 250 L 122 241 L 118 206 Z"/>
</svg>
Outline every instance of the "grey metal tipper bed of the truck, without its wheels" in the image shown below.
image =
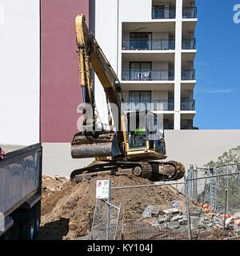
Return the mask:
<svg viewBox="0 0 240 256">
<path fill-rule="evenodd" d="M 0 213 L 11 214 L 41 189 L 41 182 L 41 144 L 7 154 L 0 161 Z"/>
</svg>

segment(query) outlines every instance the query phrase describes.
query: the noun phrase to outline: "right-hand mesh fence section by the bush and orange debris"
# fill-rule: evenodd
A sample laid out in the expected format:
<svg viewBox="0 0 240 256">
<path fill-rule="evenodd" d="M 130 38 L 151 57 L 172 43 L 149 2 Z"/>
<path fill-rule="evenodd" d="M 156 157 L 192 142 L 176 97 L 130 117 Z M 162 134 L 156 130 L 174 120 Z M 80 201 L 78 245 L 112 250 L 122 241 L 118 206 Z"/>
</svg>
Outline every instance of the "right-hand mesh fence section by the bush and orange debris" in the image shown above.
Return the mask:
<svg viewBox="0 0 240 256">
<path fill-rule="evenodd" d="M 212 168 L 190 167 L 186 178 L 190 231 L 240 231 L 240 169 L 236 164 Z M 221 232 L 220 232 L 221 233 Z M 212 234 L 210 234 L 212 237 Z M 191 238 L 191 234 L 190 234 Z"/>
</svg>

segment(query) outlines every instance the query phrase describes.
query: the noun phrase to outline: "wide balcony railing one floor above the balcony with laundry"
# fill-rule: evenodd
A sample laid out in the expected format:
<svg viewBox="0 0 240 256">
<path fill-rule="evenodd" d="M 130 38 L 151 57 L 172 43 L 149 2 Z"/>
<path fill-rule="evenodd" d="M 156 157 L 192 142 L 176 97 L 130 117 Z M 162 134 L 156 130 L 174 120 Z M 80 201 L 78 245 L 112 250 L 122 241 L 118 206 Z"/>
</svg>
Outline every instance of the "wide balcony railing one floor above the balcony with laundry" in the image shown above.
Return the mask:
<svg viewBox="0 0 240 256">
<path fill-rule="evenodd" d="M 122 39 L 122 50 L 174 50 L 174 39 Z"/>
</svg>

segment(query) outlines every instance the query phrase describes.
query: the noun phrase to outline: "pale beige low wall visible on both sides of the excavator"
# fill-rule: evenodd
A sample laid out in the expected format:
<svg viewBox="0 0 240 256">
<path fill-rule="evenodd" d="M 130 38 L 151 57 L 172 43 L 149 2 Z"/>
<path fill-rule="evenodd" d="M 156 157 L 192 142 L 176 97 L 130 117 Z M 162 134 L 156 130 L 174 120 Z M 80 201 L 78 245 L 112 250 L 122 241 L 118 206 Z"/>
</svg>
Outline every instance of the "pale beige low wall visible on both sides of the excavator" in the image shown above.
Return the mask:
<svg viewBox="0 0 240 256">
<path fill-rule="evenodd" d="M 240 146 L 240 130 L 165 130 L 166 161 L 182 162 L 186 169 L 190 165 L 204 166 L 226 150 Z M 57 151 L 56 151 L 57 150 Z M 87 166 L 93 159 L 72 159 L 70 144 L 43 144 L 43 174 L 70 177 L 74 169 Z M 59 158 L 61 155 L 61 158 Z"/>
</svg>

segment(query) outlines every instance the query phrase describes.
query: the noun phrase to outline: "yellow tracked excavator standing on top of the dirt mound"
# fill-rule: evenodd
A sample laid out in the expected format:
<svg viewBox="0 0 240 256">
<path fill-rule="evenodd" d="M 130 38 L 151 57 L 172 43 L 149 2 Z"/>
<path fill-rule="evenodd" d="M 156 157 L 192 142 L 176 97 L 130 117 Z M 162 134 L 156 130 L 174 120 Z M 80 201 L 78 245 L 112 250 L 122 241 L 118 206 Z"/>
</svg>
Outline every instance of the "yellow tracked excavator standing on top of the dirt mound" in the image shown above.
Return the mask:
<svg viewBox="0 0 240 256">
<path fill-rule="evenodd" d="M 125 107 L 119 79 L 85 20 L 83 14 L 75 19 L 79 78 L 83 95 L 83 103 L 79 109 L 83 121 L 81 131 L 74 135 L 71 142 L 71 155 L 72 158 L 95 158 L 95 161 L 89 166 L 74 170 L 70 175 L 71 180 L 82 182 L 99 174 L 134 174 L 153 181 L 182 178 L 185 168 L 181 162 L 160 161 L 166 159 L 164 133 L 158 129 L 153 132 L 144 126 L 150 120 L 157 123 L 156 116 L 150 111 L 146 114 L 146 110 L 130 111 Z M 97 123 L 93 70 L 106 93 L 109 106 L 108 129 L 102 123 Z M 139 122 L 142 112 L 146 114 L 143 126 Z M 135 130 L 130 129 L 130 118 L 133 115 L 138 119 Z M 151 136 L 153 133 L 155 137 Z"/>
</svg>

